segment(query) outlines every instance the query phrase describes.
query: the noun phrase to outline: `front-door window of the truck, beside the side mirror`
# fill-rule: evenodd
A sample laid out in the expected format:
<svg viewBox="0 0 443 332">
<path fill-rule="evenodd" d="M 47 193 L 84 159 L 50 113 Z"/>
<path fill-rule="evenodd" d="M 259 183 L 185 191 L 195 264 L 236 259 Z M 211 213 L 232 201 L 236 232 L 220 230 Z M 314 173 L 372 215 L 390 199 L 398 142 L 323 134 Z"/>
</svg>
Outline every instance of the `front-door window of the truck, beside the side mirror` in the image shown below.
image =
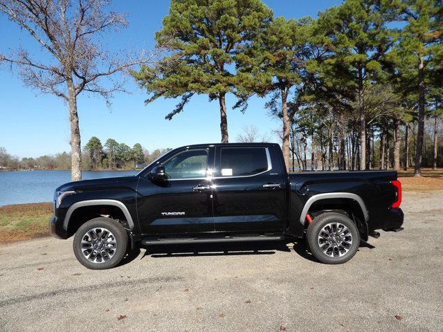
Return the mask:
<svg viewBox="0 0 443 332">
<path fill-rule="evenodd" d="M 204 178 L 208 165 L 208 149 L 181 151 L 163 163 L 166 176 L 171 179 Z"/>
</svg>

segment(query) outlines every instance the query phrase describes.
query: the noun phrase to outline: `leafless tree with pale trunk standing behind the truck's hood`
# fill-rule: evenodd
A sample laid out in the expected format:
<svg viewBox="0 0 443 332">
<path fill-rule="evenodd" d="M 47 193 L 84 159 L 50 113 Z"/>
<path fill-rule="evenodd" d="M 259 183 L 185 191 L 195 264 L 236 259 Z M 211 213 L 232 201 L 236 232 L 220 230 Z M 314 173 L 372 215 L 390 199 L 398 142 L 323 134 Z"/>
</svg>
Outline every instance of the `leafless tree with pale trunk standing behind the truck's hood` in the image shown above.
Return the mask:
<svg viewBox="0 0 443 332">
<path fill-rule="evenodd" d="M 39 62 L 19 48 L 0 53 L 0 62 L 17 65 L 24 83 L 42 93 L 62 98 L 69 106 L 71 122 L 71 177 L 82 178 L 77 97 L 83 91 L 98 93 L 109 104 L 111 94 L 124 91 L 116 73 L 151 57 L 111 55 L 100 45 L 103 33 L 127 25 L 125 15 L 107 12 L 110 0 L 0 0 L 0 12 L 37 40 L 46 54 Z M 107 77 L 107 82 L 104 82 Z"/>
</svg>

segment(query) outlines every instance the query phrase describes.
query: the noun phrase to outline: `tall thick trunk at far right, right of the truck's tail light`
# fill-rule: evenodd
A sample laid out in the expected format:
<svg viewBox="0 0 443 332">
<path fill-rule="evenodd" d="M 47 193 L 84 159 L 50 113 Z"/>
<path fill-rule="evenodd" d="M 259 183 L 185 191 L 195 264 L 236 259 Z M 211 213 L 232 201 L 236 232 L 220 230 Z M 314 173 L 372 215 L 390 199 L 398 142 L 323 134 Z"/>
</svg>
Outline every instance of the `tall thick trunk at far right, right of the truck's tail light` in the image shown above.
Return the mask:
<svg viewBox="0 0 443 332">
<path fill-rule="evenodd" d="M 418 64 L 418 129 L 417 145 L 415 145 L 415 169 L 414 176 L 422 176 L 422 155 L 424 137 L 424 60 L 423 55 L 419 57 Z"/>
</svg>

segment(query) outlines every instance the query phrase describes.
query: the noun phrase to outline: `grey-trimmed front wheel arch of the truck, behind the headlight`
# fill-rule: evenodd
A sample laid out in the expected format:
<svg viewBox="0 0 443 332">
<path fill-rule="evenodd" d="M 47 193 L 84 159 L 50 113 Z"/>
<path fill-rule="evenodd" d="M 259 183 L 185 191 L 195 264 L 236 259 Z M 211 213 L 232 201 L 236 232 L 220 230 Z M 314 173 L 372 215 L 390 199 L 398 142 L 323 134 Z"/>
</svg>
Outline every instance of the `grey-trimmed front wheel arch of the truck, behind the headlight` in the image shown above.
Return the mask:
<svg viewBox="0 0 443 332">
<path fill-rule="evenodd" d="M 63 228 L 71 236 L 82 225 L 82 223 L 102 214 L 111 214 L 113 219 L 118 220 L 129 231 L 134 229 L 134 221 L 126 205 L 112 199 L 93 199 L 79 201 L 71 205 L 66 212 Z"/>
</svg>

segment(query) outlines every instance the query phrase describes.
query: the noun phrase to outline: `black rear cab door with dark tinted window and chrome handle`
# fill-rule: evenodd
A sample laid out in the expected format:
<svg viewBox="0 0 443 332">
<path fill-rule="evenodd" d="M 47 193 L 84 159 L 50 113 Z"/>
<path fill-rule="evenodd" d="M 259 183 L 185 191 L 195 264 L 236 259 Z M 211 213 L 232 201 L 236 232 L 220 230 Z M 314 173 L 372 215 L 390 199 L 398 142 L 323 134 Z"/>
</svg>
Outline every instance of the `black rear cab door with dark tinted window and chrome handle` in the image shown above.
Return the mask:
<svg viewBox="0 0 443 332">
<path fill-rule="evenodd" d="M 215 152 L 217 232 L 280 232 L 285 227 L 282 165 L 273 145 L 223 146 Z"/>
</svg>

